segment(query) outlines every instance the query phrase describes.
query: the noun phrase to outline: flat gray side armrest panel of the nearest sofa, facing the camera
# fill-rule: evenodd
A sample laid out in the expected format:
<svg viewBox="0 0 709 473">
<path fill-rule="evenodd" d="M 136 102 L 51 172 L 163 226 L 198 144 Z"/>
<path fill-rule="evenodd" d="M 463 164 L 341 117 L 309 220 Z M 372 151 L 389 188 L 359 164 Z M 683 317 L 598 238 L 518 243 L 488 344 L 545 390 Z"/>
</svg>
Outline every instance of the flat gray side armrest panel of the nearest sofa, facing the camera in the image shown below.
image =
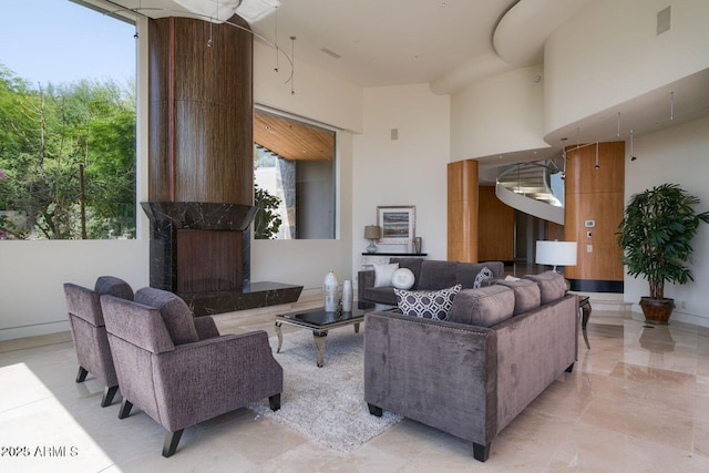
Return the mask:
<svg viewBox="0 0 709 473">
<path fill-rule="evenodd" d="M 496 332 L 392 312 L 366 316 L 364 400 L 461 439 L 496 434 Z"/>
</svg>

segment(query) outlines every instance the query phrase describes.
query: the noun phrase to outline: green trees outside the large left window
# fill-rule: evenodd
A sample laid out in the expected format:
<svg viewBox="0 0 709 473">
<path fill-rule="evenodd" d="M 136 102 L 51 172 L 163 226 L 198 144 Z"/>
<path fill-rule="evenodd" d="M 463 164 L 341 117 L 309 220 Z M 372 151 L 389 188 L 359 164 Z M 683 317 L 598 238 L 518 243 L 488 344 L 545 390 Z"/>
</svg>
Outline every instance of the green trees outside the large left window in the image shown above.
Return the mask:
<svg viewBox="0 0 709 473">
<path fill-rule="evenodd" d="M 134 89 L 134 84 L 131 86 Z M 0 219 L 11 238 L 135 236 L 135 97 L 115 83 L 31 89 L 0 66 Z"/>
</svg>

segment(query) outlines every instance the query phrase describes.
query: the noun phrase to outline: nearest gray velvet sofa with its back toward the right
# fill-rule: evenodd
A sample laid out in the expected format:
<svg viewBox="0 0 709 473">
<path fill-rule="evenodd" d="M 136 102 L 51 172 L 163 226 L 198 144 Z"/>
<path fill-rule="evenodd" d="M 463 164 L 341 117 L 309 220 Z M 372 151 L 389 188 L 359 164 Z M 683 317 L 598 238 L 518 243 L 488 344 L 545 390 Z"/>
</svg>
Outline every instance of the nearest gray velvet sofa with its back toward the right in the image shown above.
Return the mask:
<svg viewBox="0 0 709 473">
<path fill-rule="evenodd" d="M 577 354 L 575 295 L 547 271 L 455 296 L 445 320 L 373 311 L 366 316 L 364 400 L 473 443 L 492 440 Z"/>
</svg>

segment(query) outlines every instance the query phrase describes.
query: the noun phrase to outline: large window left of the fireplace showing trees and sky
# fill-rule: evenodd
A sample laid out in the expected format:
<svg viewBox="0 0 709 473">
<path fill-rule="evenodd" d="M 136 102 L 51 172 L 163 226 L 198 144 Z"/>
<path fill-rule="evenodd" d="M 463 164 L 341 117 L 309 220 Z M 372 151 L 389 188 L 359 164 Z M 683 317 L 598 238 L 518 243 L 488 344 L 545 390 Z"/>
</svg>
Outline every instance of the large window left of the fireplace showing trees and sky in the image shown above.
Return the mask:
<svg viewBox="0 0 709 473">
<path fill-rule="evenodd" d="M 135 237 L 135 24 L 4 0 L 0 239 Z"/>
</svg>

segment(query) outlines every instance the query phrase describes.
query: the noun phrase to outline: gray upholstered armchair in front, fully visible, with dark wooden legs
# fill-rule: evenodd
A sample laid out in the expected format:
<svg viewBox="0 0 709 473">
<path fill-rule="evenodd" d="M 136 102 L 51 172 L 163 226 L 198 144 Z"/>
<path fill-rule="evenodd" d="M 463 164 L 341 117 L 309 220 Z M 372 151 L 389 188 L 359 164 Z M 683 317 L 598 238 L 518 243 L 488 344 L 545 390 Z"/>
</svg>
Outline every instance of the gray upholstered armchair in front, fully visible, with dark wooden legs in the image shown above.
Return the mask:
<svg viewBox="0 0 709 473">
<path fill-rule="evenodd" d="M 135 301 L 101 298 L 123 402 L 167 429 L 163 456 L 185 428 L 264 398 L 280 409 L 282 368 L 265 331 L 219 336 L 210 317 L 195 318 L 172 292 L 144 288 Z"/>
</svg>

